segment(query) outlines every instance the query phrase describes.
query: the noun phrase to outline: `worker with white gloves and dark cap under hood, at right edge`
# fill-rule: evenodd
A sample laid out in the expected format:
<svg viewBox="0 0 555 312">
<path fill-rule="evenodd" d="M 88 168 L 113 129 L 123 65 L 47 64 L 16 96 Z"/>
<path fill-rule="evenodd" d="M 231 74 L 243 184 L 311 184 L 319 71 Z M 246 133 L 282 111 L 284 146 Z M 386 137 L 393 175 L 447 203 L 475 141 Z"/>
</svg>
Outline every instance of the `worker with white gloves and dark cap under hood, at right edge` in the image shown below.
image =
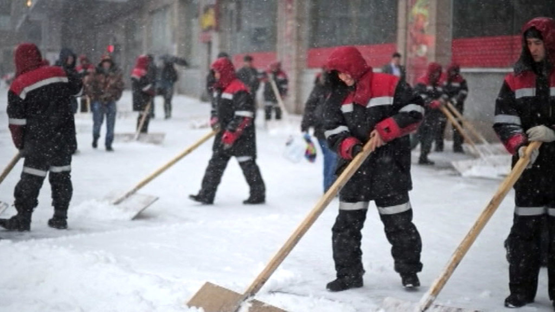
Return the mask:
<svg viewBox="0 0 555 312">
<path fill-rule="evenodd" d="M 505 306 L 534 301 L 542 220 L 547 218 L 549 299 L 555 300 L 555 21 L 539 17 L 522 28 L 522 53 L 507 74 L 495 105 L 495 129 L 513 165 L 531 141 L 543 142 L 514 184 L 513 225 L 507 240 L 509 290 Z M 554 301 L 555 303 L 555 301 Z"/>
</svg>

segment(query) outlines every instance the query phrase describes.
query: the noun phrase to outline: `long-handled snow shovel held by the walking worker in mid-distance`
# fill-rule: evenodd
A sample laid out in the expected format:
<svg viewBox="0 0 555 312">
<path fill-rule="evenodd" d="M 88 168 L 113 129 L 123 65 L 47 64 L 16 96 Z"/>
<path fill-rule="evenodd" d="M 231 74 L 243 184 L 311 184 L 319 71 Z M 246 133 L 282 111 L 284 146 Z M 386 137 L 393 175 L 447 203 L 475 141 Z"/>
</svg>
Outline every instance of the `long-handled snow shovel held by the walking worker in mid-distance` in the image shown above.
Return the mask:
<svg viewBox="0 0 555 312">
<path fill-rule="evenodd" d="M 164 164 L 162 167 L 155 170 L 153 173 L 149 174 L 146 178 L 141 180 L 135 187 L 125 193 L 122 197 L 114 200 L 112 202 L 113 205 L 117 205 L 118 207 L 122 207 L 124 210 L 127 210 L 132 215 L 131 219 L 137 217 L 139 213 L 141 213 L 144 209 L 147 209 L 152 203 L 154 203 L 158 197 L 150 196 L 150 195 L 139 195 L 135 194 L 139 189 L 147 185 L 150 181 L 154 180 L 154 178 L 158 177 L 158 175 L 162 174 L 166 169 L 170 168 L 176 162 L 178 162 L 181 158 L 185 157 L 185 155 L 193 152 L 196 148 L 198 148 L 201 144 L 206 142 L 208 139 L 213 137 L 217 130 L 212 130 L 209 133 L 206 133 L 203 137 L 201 137 L 198 141 L 193 143 L 190 147 L 183 150 L 183 152 L 176 155 L 172 158 L 168 163 Z M 128 203 L 129 200 L 129 203 Z M 122 204 L 125 203 L 125 204 Z M 135 203 L 135 204 L 133 204 Z"/>
</svg>

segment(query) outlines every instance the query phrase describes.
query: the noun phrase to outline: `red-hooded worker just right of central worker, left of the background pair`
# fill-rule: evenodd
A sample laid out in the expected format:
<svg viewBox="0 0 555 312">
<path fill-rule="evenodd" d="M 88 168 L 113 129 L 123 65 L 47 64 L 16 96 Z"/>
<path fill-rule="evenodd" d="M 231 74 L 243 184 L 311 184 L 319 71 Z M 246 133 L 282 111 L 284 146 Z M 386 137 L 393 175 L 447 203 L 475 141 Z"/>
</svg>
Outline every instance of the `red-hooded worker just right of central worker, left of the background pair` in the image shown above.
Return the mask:
<svg viewBox="0 0 555 312">
<path fill-rule="evenodd" d="M 420 128 L 418 128 L 418 139 L 420 140 L 420 158 L 418 164 L 433 165 L 432 160 L 428 159 L 428 154 L 432 149 L 432 142 L 436 137 L 439 123 L 445 119 L 445 115 L 439 110 L 442 105 L 443 88 L 441 85 L 441 65 L 438 63 L 428 64 L 428 71 L 426 74 L 418 78 L 415 91 L 420 94 L 424 100 L 424 107 L 426 108 L 426 115 Z M 438 149 L 438 152 L 441 149 Z"/>
</svg>

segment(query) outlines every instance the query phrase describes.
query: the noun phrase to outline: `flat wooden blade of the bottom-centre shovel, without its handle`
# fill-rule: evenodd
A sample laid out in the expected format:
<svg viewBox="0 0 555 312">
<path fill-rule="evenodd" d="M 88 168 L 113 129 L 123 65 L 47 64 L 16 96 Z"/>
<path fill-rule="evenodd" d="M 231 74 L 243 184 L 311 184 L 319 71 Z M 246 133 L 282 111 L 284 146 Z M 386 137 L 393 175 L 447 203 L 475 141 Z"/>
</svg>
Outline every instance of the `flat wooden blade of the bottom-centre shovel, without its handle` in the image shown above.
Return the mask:
<svg viewBox="0 0 555 312">
<path fill-rule="evenodd" d="M 189 300 L 187 305 L 189 308 L 193 306 L 196 308 L 203 308 L 204 312 L 235 312 L 241 298 L 243 298 L 243 295 L 235 293 L 233 290 L 206 282 L 199 291 L 196 292 L 193 298 Z M 244 306 L 247 305 L 249 309 L 245 310 L 243 307 L 241 311 L 287 312 L 258 300 L 246 301 Z"/>
</svg>

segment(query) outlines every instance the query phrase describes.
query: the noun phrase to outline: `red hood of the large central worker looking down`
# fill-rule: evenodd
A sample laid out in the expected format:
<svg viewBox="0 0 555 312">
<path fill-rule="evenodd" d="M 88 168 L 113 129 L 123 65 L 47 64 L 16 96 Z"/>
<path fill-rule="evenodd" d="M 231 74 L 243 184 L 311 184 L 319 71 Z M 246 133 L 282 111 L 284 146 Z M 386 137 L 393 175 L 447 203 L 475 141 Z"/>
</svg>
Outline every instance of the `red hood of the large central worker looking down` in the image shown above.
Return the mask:
<svg viewBox="0 0 555 312">
<path fill-rule="evenodd" d="M 372 70 L 360 51 L 350 46 L 336 48 L 327 59 L 326 68 L 328 71 L 349 74 L 355 80 Z"/>
</svg>

